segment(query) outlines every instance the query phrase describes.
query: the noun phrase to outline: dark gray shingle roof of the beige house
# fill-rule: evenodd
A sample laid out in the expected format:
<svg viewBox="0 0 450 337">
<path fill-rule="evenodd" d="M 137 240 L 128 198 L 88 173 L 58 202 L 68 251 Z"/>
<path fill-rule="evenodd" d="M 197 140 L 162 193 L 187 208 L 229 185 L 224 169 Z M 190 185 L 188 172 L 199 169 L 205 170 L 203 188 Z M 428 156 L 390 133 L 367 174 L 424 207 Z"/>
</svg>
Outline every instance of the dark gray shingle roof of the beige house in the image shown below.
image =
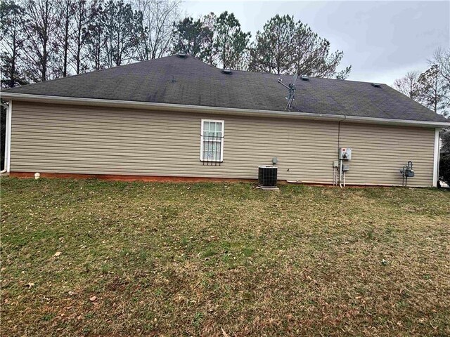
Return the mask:
<svg viewBox="0 0 450 337">
<path fill-rule="evenodd" d="M 77 98 L 128 100 L 208 107 L 284 111 L 292 77 L 233 70 L 224 74 L 195 58 L 169 56 L 63 79 L 30 84 L 4 92 Z M 297 80 L 294 109 L 317 114 L 449 121 L 382 84 L 338 79 Z"/>
</svg>

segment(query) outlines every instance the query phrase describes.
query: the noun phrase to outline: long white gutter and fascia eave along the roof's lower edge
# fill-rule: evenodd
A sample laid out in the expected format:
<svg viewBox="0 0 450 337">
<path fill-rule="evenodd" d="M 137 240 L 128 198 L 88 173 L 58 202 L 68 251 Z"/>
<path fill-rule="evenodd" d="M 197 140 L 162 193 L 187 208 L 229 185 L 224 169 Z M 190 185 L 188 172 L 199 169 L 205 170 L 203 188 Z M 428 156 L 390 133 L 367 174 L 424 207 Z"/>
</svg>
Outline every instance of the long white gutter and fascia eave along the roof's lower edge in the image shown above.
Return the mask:
<svg viewBox="0 0 450 337">
<path fill-rule="evenodd" d="M 174 112 L 205 112 L 208 114 L 231 114 L 249 117 L 278 117 L 290 119 L 312 119 L 321 121 L 352 121 L 366 124 L 389 124 L 399 126 L 421 126 L 421 127 L 449 127 L 449 122 L 444 121 L 415 121 L 409 119 L 387 119 L 375 117 L 346 116 L 344 114 L 316 114 L 309 112 L 274 111 L 274 110 L 252 110 L 235 109 L 230 107 L 206 107 L 201 105 L 179 105 L 169 103 L 136 102 L 128 100 L 103 100 L 96 98 L 72 98 L 51 95 L 32 95 L 27 93 L 2 92 L 4 100 L 20 100 L 37 103 L 59 103 L 72 105 L 91 105 L 100 107 L 127 107 L 131 109 L 174 111 Z"/>
</svg>

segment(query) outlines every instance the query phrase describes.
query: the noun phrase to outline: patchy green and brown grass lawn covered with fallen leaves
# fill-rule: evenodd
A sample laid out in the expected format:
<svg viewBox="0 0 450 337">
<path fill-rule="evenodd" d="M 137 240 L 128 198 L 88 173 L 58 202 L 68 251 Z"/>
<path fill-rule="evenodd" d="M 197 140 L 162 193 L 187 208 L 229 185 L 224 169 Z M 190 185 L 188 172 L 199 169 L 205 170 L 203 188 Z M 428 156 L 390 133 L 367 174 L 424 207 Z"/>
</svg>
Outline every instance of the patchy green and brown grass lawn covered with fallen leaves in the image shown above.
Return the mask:
<svg viewBox="0 0 450 337">
<path fill-rule="evenodd" d="M 449 336 L 450 192 L 4 178 L 1 335 Z"/>
</svg>

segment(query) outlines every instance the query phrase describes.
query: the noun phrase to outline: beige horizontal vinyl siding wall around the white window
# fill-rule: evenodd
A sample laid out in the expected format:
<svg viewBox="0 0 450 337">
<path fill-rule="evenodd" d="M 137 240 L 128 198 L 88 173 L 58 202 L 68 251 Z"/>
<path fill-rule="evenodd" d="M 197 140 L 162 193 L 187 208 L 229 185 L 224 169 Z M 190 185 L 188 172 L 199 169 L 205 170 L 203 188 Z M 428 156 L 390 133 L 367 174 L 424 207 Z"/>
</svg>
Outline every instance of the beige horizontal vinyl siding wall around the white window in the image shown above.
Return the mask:
<svg viewBox="0 0 450 337">
<path fill-rule="evenodd" d="M 201 119 L 224 120 L 224 162 L 200 161 Z M 342 122 L 352 147 L 347 183 L 432 185 L 434 129 Z M 13 102 L 11 171 L 257 178 L 278 158 L 278 178 L 332 183 L 338 123 Z"/>
</svg>

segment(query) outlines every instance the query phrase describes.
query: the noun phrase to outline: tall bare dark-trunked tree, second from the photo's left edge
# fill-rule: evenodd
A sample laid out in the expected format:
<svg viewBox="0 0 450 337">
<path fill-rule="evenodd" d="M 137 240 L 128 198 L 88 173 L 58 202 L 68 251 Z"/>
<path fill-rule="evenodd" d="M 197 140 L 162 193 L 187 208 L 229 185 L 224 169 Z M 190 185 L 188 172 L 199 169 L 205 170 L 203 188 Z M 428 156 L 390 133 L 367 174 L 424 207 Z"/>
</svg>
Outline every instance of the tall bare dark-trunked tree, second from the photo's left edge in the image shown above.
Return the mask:
<svg viewBox="0 0 450 337">
<path fill-rule="evenodd" d="M 55 32 L 60 25 L 60 13 L 52 0 L 25 0 L 22 24 L 25 36 L 25 59 L 30 77 L 46 81 L 59 76 L 58 48 Z"/>
</svg>

